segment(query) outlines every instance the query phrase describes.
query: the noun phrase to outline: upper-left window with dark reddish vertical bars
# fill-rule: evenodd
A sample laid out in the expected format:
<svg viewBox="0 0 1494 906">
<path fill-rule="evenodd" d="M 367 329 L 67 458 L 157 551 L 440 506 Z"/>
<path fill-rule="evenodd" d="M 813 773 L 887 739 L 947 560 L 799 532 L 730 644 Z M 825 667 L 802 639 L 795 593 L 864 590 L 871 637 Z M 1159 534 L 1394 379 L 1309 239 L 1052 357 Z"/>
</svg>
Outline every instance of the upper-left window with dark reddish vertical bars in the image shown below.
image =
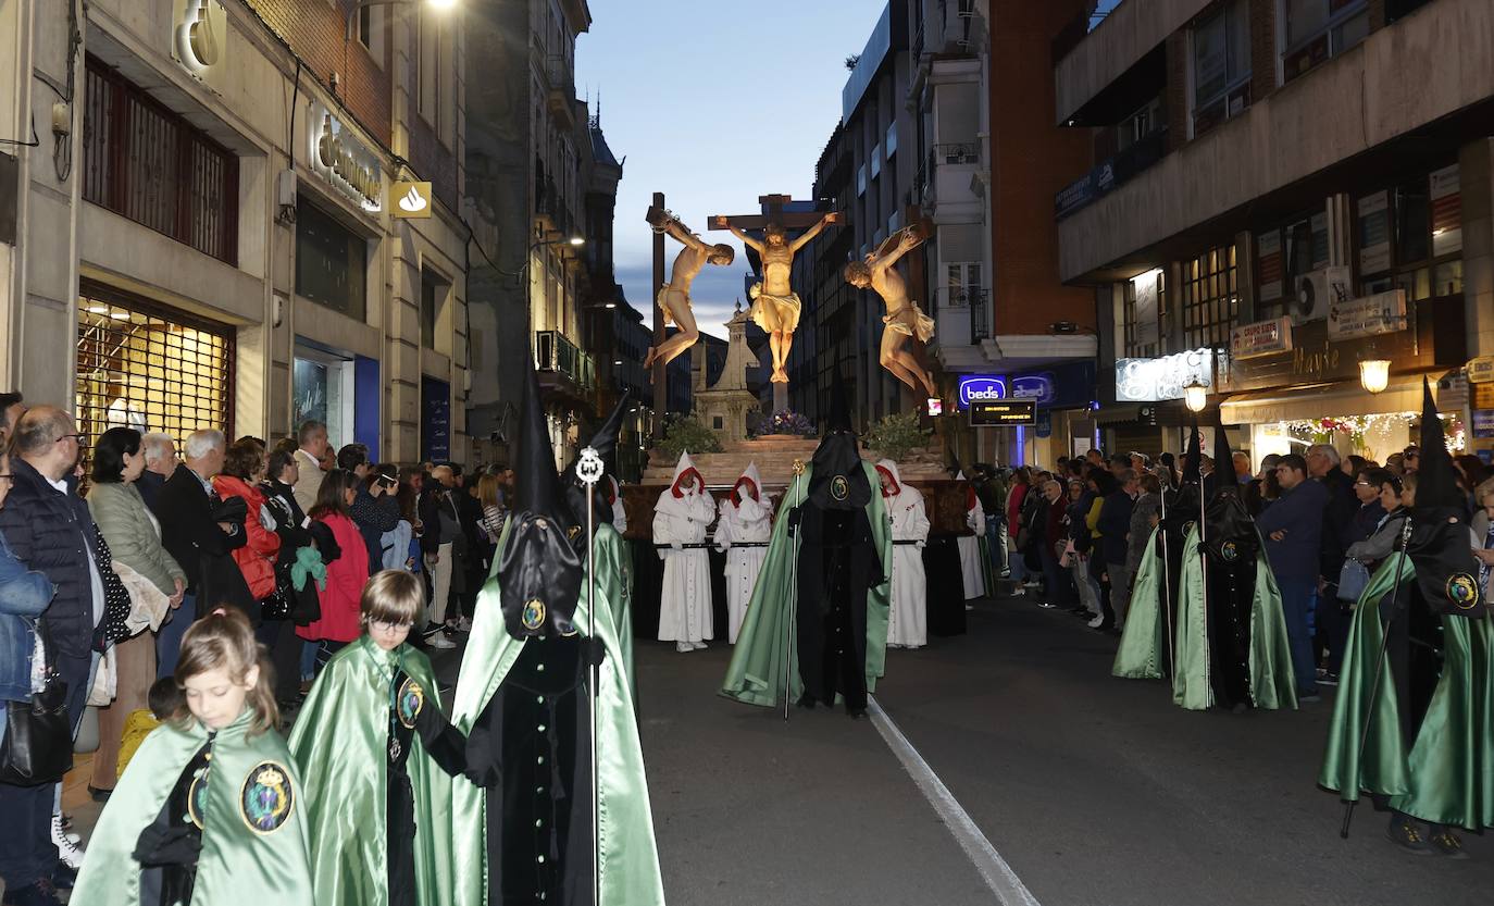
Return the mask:
<svg viewBox="0 0 1494 906">
<path fill-rule="evenodd" d="M 239 158 L 88 57 L 84 199 L 238 265 Z"/>
</svg>

